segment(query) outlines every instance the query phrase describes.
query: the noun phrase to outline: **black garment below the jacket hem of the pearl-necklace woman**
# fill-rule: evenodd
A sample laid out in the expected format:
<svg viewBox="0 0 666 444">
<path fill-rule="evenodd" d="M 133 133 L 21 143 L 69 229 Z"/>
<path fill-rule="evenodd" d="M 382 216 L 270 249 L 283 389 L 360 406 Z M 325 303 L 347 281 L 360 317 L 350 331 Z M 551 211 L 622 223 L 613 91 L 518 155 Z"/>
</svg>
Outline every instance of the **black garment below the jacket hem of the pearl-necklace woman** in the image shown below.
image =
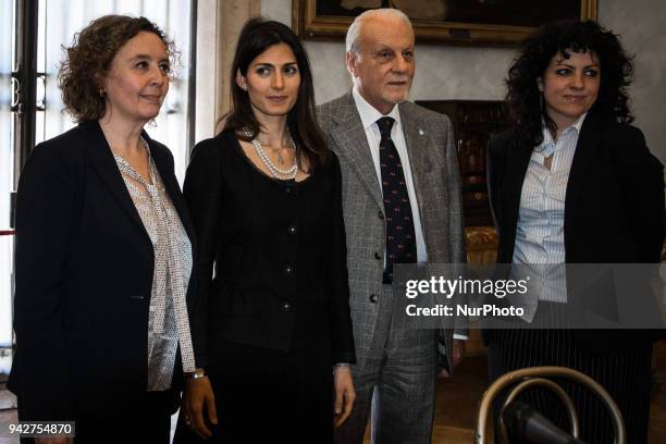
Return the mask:
<svg viewBox="0 0 666 444">
<path fill-rule="evenodd" d="M 330 341 L 282 353 L 230 342 L 215 344 L 209 378 L 218 427 L 207 443 L 333 442 Z M 178 421 L 175 444 L 200 442 Z"/>
</svg>

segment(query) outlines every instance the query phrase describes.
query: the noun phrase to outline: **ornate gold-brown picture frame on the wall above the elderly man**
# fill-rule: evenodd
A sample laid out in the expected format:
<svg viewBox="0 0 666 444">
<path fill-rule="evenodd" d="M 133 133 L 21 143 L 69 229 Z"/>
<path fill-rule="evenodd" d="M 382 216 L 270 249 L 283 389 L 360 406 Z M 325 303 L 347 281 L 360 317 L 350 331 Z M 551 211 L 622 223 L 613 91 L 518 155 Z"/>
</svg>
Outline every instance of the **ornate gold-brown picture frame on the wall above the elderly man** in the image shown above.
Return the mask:
<svg viewBox="0 0 666 444">
<path fill-rule="evenodd" d="M 340 40 L 344 38 L 353 17 L 317 15 L 318 0 L 293 0 L 292 27 L 305 39 Z M 534 2 L 538 8 L 539 2 Z M 581 0 L 580 20 L 596 20 L 597 0 Z M 448 45 L 515 46 L 535 28 L 502 24 L 473 24 L 436 20 L 412 20 L 417 41 L 439 41 Z"/>
</svg>

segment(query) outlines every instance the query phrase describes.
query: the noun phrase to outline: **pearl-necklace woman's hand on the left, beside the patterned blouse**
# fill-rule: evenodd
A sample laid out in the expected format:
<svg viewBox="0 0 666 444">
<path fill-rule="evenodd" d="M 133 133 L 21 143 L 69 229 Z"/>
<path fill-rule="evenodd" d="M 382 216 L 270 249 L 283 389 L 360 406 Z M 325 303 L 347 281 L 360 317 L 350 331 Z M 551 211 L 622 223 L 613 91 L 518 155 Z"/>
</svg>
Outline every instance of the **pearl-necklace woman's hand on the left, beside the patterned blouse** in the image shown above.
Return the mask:
<svg viewBox="0 0 666 444">
<path fill-rule="evenodd" d="M 185 423 L 203 440 L 208 440 L 212 432 L 206 427 L 203 409 L 208 412 L 208 420 L 214 425 L 218 424 L 215 396 L 208 377 L 190 378 L 187 380 L 181 407 Z"/>
</svg>

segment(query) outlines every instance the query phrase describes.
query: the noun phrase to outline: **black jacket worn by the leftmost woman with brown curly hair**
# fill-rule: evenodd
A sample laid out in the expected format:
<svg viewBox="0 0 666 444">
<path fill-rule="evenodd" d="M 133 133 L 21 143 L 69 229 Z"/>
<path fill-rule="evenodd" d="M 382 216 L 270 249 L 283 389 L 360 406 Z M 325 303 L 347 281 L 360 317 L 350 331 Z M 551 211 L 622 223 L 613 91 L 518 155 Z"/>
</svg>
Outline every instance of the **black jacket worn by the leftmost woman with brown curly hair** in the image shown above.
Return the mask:
<svg viewBox="0 0 666 444">
<path fill-rule="evenodd" d="M 173 157 L 143 136 L 194 251 Z M 9 387 L 21 420 L 103 418 L 146 392 L 153 260 L 97 122 L 35 148 L 16 202 L 17 349 Z"/>
</svg>

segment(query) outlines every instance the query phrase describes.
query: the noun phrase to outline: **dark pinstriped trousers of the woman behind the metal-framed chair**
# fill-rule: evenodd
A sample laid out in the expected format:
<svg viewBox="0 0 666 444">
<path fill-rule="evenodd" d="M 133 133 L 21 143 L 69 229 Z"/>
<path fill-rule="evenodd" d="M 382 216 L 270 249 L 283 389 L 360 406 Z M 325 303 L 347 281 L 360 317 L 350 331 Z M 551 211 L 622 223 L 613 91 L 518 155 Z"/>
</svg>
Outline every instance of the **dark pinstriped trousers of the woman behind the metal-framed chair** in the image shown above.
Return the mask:
<svg viewBox="0 0 666 444">
<path fill-rule="evenodd" d="M 511 370 L 536 366 L 562 366 L 599 382 L 618 405 L 630 444 L 648 442 L 652 346 L 637 345 L 618 356 L 595 356 L 582 350 L 570 330 L 496 330 L 489 344 L 491 382 Z M 610 416 L 599 398 L 581 385 L 557 381 L 574 400 L 585 443 L 613 442 Z M 519 398 L 535 407 L 563 430 L 570 429 L 562 403 L 550 391 L 534 388 Z M 495 404 L 498 408 L 503 399 Z"/>
</svg>

